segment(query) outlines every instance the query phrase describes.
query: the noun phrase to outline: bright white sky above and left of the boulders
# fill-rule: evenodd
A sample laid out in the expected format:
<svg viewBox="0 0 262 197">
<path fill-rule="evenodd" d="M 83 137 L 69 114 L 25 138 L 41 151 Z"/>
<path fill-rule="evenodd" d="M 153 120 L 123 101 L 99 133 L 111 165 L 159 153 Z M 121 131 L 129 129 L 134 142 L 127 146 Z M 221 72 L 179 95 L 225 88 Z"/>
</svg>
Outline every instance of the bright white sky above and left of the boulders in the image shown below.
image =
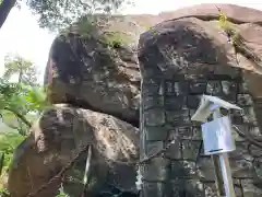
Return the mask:
<svg viewBox="0 0 262 197">
<path fill-rule="evenodd" d="M 157 14 L 163 11 L 177 10 L 182 7 L 200 4 L 200 3 L 233 3 L 262 10 L 262 2 L 259 0 L 133 0 L 134 5 L 126 8 L 122 13 L 140 14 L 151 13 Z M 0 28 L 0 76 L 3 72 L 4 56 L 7 54 L 17 54 L 33 61 L 40 71 L 43 78 L 47 62 L 50 45 L 55 38 L 55 34 L 46 30 L 39 28 L 36 18 L 31 14 L 26 7 L 21 10 L 12 9 L 8 20 L 2 28 Z M 41 81 L 41 79 L 40 79 Z"/>
</svg>

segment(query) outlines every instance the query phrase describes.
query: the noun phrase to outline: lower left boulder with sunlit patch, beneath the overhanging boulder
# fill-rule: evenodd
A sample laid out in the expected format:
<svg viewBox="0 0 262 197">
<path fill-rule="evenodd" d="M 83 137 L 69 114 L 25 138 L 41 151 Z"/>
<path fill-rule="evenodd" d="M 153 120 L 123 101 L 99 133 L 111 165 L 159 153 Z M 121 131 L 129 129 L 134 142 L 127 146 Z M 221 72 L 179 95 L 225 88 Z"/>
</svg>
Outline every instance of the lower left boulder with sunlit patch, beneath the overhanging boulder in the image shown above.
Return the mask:
<svg viewBox="0 0 262 197">
<path fill-rule="evenodd" d="M 9 173 L 12 197 L 25 197 L 57 175 L 86 146 L 92 144 L 88 195 L 100 192 L 135 192 L 139 134 L 133 126 L 110 115 L 56 105 L 32 127 L 31 136 L 15 153 Z M 87 151 L 61 178 L 37 197 L 55 197 L 61 183 L 66 194 L 79 197 L 83 190 Z M 128 178 L 127 178 L 128 177 Z"/>
</svg>

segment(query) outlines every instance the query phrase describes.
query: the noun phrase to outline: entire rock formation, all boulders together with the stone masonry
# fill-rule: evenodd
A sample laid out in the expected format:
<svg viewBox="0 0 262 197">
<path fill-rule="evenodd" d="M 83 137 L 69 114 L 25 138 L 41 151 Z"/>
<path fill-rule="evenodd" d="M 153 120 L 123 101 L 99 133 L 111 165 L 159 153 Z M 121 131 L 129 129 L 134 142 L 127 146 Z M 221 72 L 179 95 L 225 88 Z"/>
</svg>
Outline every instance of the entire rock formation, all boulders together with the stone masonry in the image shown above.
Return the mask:
<svg viewBox="0 0 262 197">
<path fill-rule="evenodd" d="M 237 54 L 218 26 L 216 7 L 242 36 Z M 53 40 L 46 68 L 48 99 L 56 108 L 45 112 L 17 147 L 11 196 L 36 192 L 90 143 L 87 196 L 112 187 L 135 192 L 139 148 L 144 159 L 172 139 L 163 154 L 141 165 L 141 195 L 219 196 L 211 158 L 201 150 L 200 124 L 190 120 L 203 93 L 243 108 L 242 114 L 229 112 L 242 131 L 235 131 L 237 151 L 229 154 L 235 189 L 237 197 L 262 196 L 261 25 L 260 11 L 202 4 L 158 15 L 114 16 L 99 21 L 98 28 L 90 23 L 70 27 Z M 79 197 L 86 157 L 85 151 L 62 179 L 35 197 L 55 197 L 61 183 L 67 194 Z"/>
</svg>

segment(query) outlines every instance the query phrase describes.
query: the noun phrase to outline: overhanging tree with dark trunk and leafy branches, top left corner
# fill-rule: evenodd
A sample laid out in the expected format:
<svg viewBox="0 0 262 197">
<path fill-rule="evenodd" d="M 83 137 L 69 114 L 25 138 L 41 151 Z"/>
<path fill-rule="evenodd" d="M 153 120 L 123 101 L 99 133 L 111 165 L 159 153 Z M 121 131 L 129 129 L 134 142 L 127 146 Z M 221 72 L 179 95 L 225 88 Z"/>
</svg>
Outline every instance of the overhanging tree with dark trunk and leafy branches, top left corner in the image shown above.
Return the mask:
<svg viewBox="0 0 262 197">
<path fill-rule="evenodd" d="M 88 13 L 110 13 L 119 9 L 127 0 L 0 0 L 0 28 L 13 7 L 25 2 L 37 14 L 40 27 L 51 31 L 76 22 Z"/>
</svg>

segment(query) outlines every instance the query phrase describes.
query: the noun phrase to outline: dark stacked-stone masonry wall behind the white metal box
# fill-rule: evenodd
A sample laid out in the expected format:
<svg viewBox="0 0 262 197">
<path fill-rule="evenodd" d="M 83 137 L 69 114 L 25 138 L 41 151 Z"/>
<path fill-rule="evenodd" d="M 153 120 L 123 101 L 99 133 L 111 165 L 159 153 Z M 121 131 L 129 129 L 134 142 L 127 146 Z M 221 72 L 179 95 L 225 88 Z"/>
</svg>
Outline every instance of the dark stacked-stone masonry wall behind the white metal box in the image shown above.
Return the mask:
<svg viewBox="0 0 262 197">
<path fill-rule="evenodd" d="M 240 73 L 236 78 L 187 74 L 172 79 L 144 78 L 141 125 L 144 157 L 162 150 L 172 139 L 176 142 L 163 155 L 141 165 L 146 187 L 143 197 L 217 196 L 212 160 L 200 149 L 200 124 L 191 121 L 202 94 L 215 95 L 242 107 L 242 112 L 223 111 L 223 114 L 229 115 L 241 131 L 253 137 L 261 136 L 253 108 L 255 103 Z M 262 167 L 259 165 L 261 152 L 246 139 L 236 134 L 234 136 L 237 150 L 229 153 L 229 158 L 236 195 L 262 196 L 259 188 L 262 184 Z"/>
</svg>

